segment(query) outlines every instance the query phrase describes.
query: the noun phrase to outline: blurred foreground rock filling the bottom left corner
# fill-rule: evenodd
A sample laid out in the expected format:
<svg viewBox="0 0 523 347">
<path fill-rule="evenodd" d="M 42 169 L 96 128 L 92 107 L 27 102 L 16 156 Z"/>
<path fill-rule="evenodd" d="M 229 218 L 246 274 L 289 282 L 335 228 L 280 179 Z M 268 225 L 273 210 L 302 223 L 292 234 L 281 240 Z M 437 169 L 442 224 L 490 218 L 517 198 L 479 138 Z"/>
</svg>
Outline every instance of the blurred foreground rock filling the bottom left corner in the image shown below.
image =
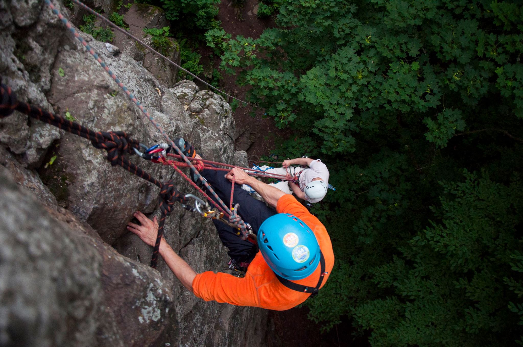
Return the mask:
<svg viewBox="0 0 523 347">
<path fill-rule="evenodd" d="M 0 206 L 0 345 L 143 346 L 176 331 L 158 272 L 44 209 L 3 167 Z"/>
</svg>

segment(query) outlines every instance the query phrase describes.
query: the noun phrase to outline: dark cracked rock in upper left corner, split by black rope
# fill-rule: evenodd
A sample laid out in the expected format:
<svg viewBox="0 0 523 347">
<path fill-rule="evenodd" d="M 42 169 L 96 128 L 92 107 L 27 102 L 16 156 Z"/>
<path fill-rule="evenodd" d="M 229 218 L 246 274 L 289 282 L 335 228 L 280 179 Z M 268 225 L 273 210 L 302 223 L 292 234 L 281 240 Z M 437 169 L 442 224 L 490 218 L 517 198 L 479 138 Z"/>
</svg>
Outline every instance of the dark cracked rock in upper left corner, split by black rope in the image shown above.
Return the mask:
<svg viewBox="0 0 523 347">
<path fill-rule="evenodd" d="M 45 93 L 63 27 L 44 6 L 38 0 L 0 1 L 0 75 L 20 99 L 51 110 Z M 18 112 L 0 120 L 0 144 L 20 155 L 29 167 L 39 166 L 46 148 L 59 137 L 58 129 L 30 121 Z"/>
</svg>

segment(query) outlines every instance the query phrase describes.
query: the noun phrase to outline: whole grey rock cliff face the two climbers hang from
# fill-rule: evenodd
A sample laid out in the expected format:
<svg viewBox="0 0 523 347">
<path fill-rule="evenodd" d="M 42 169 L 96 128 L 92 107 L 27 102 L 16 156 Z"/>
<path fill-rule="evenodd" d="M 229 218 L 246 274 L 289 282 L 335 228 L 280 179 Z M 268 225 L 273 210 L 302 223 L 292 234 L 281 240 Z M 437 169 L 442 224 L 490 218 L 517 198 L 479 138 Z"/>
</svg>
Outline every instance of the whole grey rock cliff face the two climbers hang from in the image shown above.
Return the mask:
<svg viewBox="0 0 523 347">
<path fill-rule="evenodd" d="M 42 4 L 0 1 L 2 83 L 93 130 L 164 141 Z M 168 88 L 133 57 L 82 36 L 170 137 L 233 163 L 223 98 L 190 81 Z M 111 167 L 87 140 L 17 112 L 0 121 L 0 144 L 0 345 L 264 345 L 266 311 L 205 303 L 163 260 L 158 271 L 148 267 L 151 247 L 124 226 L 136 210 L 158 214 L 155 186 Z M 171 168 L 131 160 L 195 193 Z M 225 271 L 226 249 L 209 220 L 177 206 L 165 236 L 196 271 Z"/>
</svg>

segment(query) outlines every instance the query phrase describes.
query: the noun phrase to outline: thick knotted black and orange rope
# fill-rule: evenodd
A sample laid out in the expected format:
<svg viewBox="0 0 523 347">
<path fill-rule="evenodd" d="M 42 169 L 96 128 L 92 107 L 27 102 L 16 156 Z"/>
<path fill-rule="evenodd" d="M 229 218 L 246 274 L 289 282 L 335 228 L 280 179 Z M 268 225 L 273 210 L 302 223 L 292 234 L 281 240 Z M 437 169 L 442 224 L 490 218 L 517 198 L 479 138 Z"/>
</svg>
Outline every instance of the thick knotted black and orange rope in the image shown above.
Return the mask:
<svg viewBox="0 0 523 347">
<path fill-rule="evenodd" d="M 29 117 L 49 123 L 69 133 L 87 138 L 94 147 L 107 151 L 107 160 L 112 166 L 121 166 L 129 172 L 134 173 L 134 175 L 160 188 L 160 210 L 162 215 L 160 221 L 158 221 L 158 234 L 151 258 L 151 267 L 156 268 L 165 218 L 173 211 L 175 201 L 187 206 L 188 199 L 176 189 L 171 180 L 162 183 L 129 161 L 126 154 L 133 155 L 133 148 L 138 149 L 140 142 L 130 138 L 129 135 L 123 131 L 95 132 L 59 115 L 47 112 L 39 107 L 31 106 L 27 102 L 18 102 L 11 88 L 4 84 L 0 84 L 0 100 L 0 118 L 8 117 L 14 111 L 19 111 L 29 115 Z M 190 207 L 186 207 L 186 209 L 190 210 Z"/>
</svg>

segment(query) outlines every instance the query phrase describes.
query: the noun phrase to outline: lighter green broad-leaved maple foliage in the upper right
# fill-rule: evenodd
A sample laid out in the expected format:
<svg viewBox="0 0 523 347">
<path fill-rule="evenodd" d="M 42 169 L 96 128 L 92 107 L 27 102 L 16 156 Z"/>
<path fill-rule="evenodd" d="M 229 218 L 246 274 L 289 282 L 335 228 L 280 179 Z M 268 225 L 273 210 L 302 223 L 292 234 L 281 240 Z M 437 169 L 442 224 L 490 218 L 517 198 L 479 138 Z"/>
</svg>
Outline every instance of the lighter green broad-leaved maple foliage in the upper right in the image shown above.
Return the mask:
<svg viewBox="0 0 523 347">
<path fill-rule="evenodd" d="M 282 29 L 256 40 L 223 38 L 222 67 L 248 69 L 240 82 L 253 86 L 249 99 L 282 126 L 303 114 L 300 123 L 333 145 L 325 146 L 328 152 L 350 151 L 355 132 L 376 134 L 400 114 L 407 125 L 434 118 L 444 102 L 472 124 L 477 112 L 471 106 L 497 95 L 521 117 L 522 15 L 507 6 L 285 2 L 278 15 Z M 495 27 L 506 29 L 494 34 Z M 438 132 L 446 128 L 429 125 L 436 133 L 427 138 L 444 144 L 448 135 Z"/>
</svg>

